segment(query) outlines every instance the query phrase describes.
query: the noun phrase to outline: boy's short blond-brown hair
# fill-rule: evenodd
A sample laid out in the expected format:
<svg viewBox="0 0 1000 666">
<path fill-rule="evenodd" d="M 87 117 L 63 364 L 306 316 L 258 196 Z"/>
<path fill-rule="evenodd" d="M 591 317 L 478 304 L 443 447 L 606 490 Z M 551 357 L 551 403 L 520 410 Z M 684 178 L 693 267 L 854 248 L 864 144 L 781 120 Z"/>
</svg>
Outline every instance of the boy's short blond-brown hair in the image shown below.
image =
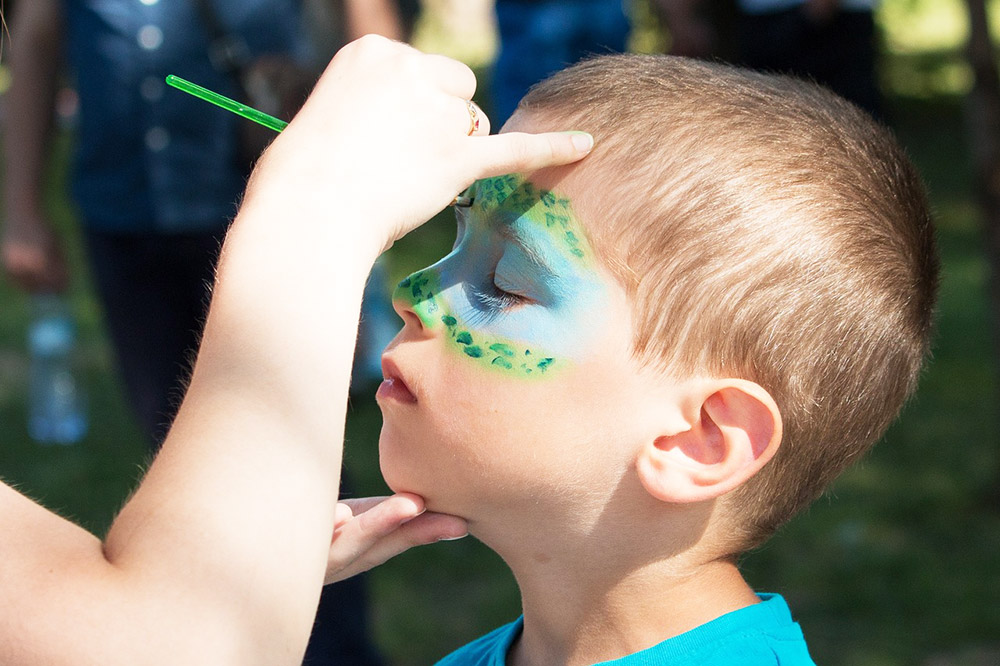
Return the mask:
<svg viewBox="0 0 1000 666">
<path fill-rule="evenodd" d="M 518 113 L 596 138 L 589 230 L 632 299 L 637 356 L 778 403 L 778 454 L 727 498 L 728 552 L 761 543 L 914 390 L 938 280 L 916 170 L 831 92 L 682 58 L 584 61 Z"/>
</svg>

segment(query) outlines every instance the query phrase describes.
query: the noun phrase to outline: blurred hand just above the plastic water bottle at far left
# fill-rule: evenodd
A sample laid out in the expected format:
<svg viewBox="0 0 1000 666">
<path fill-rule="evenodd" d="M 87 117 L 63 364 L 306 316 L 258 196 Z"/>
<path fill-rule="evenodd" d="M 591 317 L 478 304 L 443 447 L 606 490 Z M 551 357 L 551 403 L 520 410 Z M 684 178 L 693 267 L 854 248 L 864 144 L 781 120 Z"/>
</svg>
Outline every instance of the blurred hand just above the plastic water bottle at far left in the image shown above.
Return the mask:
<svg viewBox="0 0 1000 666">
<path fill-rule="evenodd" d="M 9 219 L 0 241 L 4 271 L 29 292 L 66 289 L 69 272 L 62 248 L 42 219 Z"/>
</svg>

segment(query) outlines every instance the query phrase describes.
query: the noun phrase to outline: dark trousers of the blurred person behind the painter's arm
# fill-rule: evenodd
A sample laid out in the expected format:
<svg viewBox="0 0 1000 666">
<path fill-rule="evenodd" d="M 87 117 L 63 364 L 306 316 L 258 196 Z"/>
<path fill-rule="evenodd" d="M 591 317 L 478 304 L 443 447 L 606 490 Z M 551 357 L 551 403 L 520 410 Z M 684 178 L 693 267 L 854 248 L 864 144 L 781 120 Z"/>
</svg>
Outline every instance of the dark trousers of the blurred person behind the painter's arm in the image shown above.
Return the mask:
<svg viewBox="0 0 1000 666">
<path fill-rule="evenodd" d="M 153 451 L 184 393 L 224 234 L 85 232 L 125 390 Z M 382 663 L 369 639 L 365 587 L 355 577 L 323 589 L 305 663 Z"/>
</svg>

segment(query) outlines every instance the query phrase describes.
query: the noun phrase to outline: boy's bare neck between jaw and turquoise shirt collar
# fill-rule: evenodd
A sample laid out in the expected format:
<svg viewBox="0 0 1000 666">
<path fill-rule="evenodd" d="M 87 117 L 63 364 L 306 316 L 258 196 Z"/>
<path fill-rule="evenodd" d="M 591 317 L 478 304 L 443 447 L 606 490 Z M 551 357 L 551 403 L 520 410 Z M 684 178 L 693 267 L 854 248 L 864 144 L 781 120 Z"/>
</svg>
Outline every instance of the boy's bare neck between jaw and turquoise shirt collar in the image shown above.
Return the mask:
<svg viewBox="0 0 1000 666">
<path fill-rule="evenodd" d="M 555 507 L 513 511 L 506 526 L 470 522 L 521 589 L 524 630 L 508 666 L 616 659 L 759 601 L 735 563 L 711 550 L 714 507 L 637 497 L 583 524 Z"/>
</svg>

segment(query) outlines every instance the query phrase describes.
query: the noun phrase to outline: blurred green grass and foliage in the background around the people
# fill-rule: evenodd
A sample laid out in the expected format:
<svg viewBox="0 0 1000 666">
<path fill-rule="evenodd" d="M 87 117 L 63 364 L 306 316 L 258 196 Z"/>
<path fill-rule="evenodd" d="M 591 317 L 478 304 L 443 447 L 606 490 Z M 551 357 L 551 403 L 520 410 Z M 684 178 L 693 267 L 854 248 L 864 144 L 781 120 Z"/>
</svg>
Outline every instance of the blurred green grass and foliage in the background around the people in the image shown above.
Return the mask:
<svg viewBox="0 0 1000 666">
<path fill-rule="evenodd" d="M 33 0 L 17 0 L 25 2 Z M 8 16 L 15 4 L 5 3 Z M 708 33 L 690 32 L 700 28 L 662 5 L 625 3 L 629 50 L 737 57 L 735 2 L 695 7 Z M 413 43 L 471 65 L 480 79 L 477 101 L 492 114 L 501 43 L 493 2 L 424 0 L 418 9 Z M 934 358 L 884 441 L 743 566 L 755 588 L 785 595 L 817 663 L 996 666 L 1000 289 L 992 285 L 1000 256 L 1000 79 L 987 39 L 1000 38 L 1000 1 L 883 0 L 874 26 L 878 113 L 922 171 L 937 215 L 944 273 Z M 5 46 L 17 38 L 14 32 Z M 0 114 L 9 112 L 7 60 L 0 64 Z M 0 282 L 0 477 L 100 535 L 149 453 L 116 370 L 68 193 L 78 96 L 73 80 L 64 81 L 44 200 L 73 276 L 66 302 L 78 331 L 74 363 L 89 427 L 68 446 L 29 436 L 33 306 L 11 280 Z M 397 243 L 382 284 L 441 256 L 453 235 L 445 213 Z M 345 474 L 352 495 L 381 494 L 374 385 L 359 381 L 358 389 L 349 409 Z M 370 583 L 374 640 L 399 666 L 432 663 L 519 612 L 503 563 L 472 539 L 407 553 L 375 571 Z"/>
</svg>

